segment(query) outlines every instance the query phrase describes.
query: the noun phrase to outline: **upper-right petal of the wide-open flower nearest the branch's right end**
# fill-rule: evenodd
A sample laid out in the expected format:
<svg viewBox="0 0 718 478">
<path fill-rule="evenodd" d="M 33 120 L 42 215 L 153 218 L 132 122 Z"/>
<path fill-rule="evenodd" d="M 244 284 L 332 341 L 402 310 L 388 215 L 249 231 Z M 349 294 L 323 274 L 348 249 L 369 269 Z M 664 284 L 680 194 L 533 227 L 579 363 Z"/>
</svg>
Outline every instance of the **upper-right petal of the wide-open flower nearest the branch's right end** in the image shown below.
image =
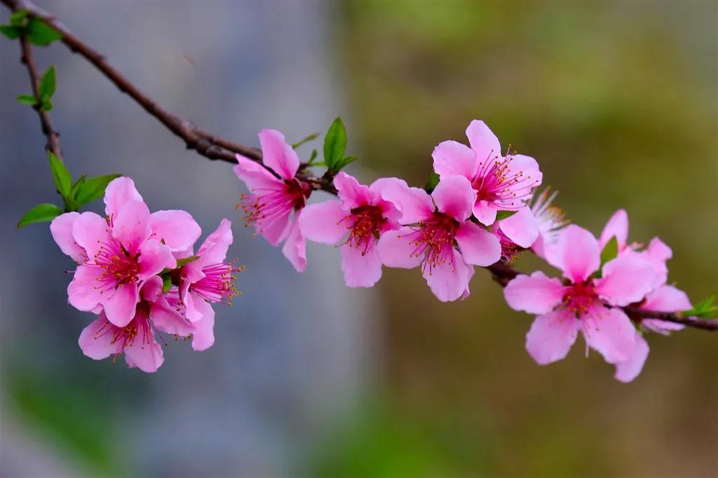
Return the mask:
<svg viewBox="0 0 718 478">
<path fill-rule="evenodd" d="M 636 256 L 620 256 L 603 266 L 603 277 L 595 282 L 596 291 L 611 305 L 627 306 L 640 301 L 653 289 L 655 274 L 648 261 Z"/>
</svg>

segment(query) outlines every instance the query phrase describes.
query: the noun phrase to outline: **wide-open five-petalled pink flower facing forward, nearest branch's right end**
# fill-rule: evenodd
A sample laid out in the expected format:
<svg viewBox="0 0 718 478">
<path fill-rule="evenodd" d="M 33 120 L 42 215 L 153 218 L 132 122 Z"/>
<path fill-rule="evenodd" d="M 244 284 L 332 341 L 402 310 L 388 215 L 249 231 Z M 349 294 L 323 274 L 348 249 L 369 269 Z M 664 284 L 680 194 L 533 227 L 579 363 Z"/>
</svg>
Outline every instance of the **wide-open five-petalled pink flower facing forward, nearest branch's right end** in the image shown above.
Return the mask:
<svg viewBox="0 0 718 478">
<path fill-rule="evenodd" d="M 636 256 L 617 257 L 605 263 L 602 278 L 594 278 L 600 268 L 599 243 L 577 225 L 569 225 L 556 245 L 546 249 L 546 260 L 563 271 L 565 285 L 534 272 L 517 276 L 504 289 L 512 309 L 538 314 L 526 335 L 529 355 L 541 365 L 561 360 L 581 331 L 587 345 L 607 362 L 617 365 L 633 357 L 637 334 L 618 307 L 643 300 L 653 289 L 651 264 Z"/>
</svg>

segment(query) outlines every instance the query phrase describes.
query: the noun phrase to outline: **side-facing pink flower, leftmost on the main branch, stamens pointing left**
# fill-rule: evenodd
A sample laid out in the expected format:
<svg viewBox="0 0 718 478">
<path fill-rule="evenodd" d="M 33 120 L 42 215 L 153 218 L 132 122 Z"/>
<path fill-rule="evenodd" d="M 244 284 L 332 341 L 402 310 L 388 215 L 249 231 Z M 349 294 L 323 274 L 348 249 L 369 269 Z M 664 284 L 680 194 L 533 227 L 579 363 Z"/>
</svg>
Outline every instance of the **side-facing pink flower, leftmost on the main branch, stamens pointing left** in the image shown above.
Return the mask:
<svg viewBox="0 0 718 478">
<path fill-rule="evenodd" d="M 241 154 L 237 155 L 234 172 L 248 187 L 251 195 L 242 195 L 241 207 L 247 225 L 271 245 L 284 241 L 282 253 L 298 272 L 307 267 L 306 240 L 299 231 L 301 215 L 311 190 L 296 177 L 299 157 L 284 135 L 274 129 L 259 132 L 264 166 Z M 271 169 L 276 176 L 269 172 Z"/>
</svg>

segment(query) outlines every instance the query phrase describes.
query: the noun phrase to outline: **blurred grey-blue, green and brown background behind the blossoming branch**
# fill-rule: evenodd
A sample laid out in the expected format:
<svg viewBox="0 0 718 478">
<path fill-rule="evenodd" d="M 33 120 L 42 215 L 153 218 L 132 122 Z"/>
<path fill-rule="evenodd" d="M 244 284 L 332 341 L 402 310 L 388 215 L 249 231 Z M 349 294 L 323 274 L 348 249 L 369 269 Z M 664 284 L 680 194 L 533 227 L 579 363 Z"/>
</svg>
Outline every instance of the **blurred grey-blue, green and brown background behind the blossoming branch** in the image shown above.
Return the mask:
<svg viewBox="0 0 718 478">
<path fill-rule="evenodd" d="M 714 1 L 38 4 L 222 136 L 296 140 L 342 116 L 365 181 L 423 184 L 433 147 L 482 118 L 538 159 L 573 222 L 599 233 L 625 207 L 632 240 L 673 247 L 671 281 L 694 300 L 718 289 Z M 18 60 L 0 39 L 3 476 L 717 476 L 718 337 L 651 337 L 625 385 L 580 341 L 536 365 L 531 317 L 488 273 L 453 304 L 416 271 L 347 289 L 327 247 L 299 275 L 241 227 L 228 165 L 55 44 L 37 60 L 57 70 L 71 172 L 134 177 L 151 209 L 190 210 L 204 235 L 230 217 L 247 266 L 212 349 L 173 343 L 154 375 L 83 357 L 69 260 L 45 226 L 14 228 L 55 200 L 37 118 L 14 100 L 29 88 Z"/>
</svg>

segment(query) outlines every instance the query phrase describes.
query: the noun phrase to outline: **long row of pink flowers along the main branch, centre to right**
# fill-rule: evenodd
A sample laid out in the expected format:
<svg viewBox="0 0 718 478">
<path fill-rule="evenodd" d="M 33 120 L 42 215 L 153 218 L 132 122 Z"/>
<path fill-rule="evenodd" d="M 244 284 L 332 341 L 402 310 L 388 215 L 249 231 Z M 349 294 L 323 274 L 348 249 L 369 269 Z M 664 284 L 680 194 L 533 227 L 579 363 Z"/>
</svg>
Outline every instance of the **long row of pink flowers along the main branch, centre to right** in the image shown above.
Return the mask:
<svg viewBox="0 0 718 478">
<path fill-rule="evenodd" d="M 567 226 L 551 205 L 556 193 L 536 194 L 543 178 L 535 159 L 510 148 L 502 153 L 483 121 L 472 121 L 466 134 L 470 146 L 444 141 L 434 149 L 439 182 L 430 194 L 394 177 L 365 186 L 339 172 L 338 200 L 307 205 L 312 187 L 297 177 L 297 154 L 279 131 L 263 130 L 265 167 L 237 155 L 235 172 L 250 191 L 239 206 L 258 234 L 272 245 L 284 243 L 284 256 L 299 272 L 307 266 L 307 239 L 334 244 L 348 286 L 373 286 L 383 266 L 420 266 L 441 301 L 469 295 L 475 266 L 508 262 L 533 250 L 559 268 L 564 281 L 535 272 L 505 287 L 509 306 L 538 314 L 526 337 L 531 357 L 539 364 L 560 360 L 581 331 L 587 347 L 616 366 L 618 380 L 633 380 L 648 355 L 642 332 L 667 334 L 682 326 L 644 319 L 637 329 L 621 308 L 691 307 L 684 292 L 666 285 L 671 249 L 658 238 L 645 248 L 627 243 L 623 210 L 600 240 Z M 615 258 L 602 264 L 601 252 L 612 238 Z"/>
</svg>

